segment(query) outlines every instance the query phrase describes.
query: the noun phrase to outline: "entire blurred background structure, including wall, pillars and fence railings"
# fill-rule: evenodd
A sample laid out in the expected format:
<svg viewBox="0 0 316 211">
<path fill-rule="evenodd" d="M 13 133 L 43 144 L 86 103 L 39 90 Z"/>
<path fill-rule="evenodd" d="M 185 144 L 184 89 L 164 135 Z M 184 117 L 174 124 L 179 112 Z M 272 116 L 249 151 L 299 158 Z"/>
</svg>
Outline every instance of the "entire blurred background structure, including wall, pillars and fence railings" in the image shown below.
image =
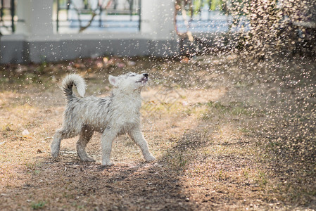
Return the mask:
<svg viewBox="0 0 316 211">
<path fill-rule="evenodd" d="M 294 49 L 303 45 L 302 39 L 310 36 L 310 41 L 315 37 L 314 4 L 304 1 L 292 13 L 286 10 L 293 8 L 287 0 L 270 1 L 265 2 L 273 5 L 274 11 L 282 11 L 278 21 L 286 23 L 278 29 L 291 27 L 299 41 L 295 41 Z M 256 23 L 247 15 L 254 13 L 253 5 L 258 2 L 0 0 L 0 63 L 41 63 L 103 55 L 177 56 L 196 49 L 201 53 L 213 47 L 228 48 L 225 34 L 254 29 Z M 230 40 L 238 43 L 241 39 Z"/>
</svg>

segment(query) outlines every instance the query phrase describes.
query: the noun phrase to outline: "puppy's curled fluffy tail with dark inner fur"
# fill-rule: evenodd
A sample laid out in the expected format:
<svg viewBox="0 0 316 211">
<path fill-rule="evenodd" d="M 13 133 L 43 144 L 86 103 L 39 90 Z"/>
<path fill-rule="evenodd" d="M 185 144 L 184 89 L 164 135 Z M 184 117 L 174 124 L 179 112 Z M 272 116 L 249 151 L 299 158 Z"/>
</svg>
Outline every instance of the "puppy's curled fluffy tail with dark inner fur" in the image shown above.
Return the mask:
<svg viewBox="0 0 316 211">
<path fill-rule="evenodd" d="M 70 100 L 74 97 L 72 94 L 72 87 L 75 85 L 77 88 L 78 94 L 80 96 L 84 96 L 84 93 L 86 92 L 86 83 L 84 82 L 84 79 L 77 74 L 70 74 L 67 75 L 63 82 L 61 82 L 61 89 L 63 90 L 63 94 L 65 97 Z"/>
</svg>

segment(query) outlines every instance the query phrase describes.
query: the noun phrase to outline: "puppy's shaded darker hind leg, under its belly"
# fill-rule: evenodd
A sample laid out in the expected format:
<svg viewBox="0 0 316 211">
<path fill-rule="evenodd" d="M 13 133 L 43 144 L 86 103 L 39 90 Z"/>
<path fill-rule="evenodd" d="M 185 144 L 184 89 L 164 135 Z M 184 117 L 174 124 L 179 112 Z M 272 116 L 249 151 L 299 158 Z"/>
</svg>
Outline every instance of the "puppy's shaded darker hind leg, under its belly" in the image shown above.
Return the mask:
<svg viewBox="0 0 316 211">
<path fill-rule="evenodd" d="M 91 136 L 94 134 L 94 132 L 89 129 L 88 127 L 83 127 L 79 140 L 77 141 L 77 154 L 82 161 L 88 161 L 88 162 L 94 162 L 93 158 L 90 158 L 89 155 L 86 152 L 86 146 L 87 143 L 90 141 Z"/>
</svg>

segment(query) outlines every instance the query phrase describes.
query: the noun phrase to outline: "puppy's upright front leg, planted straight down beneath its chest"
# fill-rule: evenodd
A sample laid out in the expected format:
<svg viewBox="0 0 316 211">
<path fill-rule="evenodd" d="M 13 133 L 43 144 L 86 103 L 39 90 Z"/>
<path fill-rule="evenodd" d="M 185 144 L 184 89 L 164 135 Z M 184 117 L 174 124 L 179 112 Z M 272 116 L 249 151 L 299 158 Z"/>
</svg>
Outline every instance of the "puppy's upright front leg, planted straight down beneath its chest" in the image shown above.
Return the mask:
<svg viewBox="0 0 316 211">
<path fill-rule="evenodd" d="M 114 163 L 110 161 L 110 152 L 112 151 L 112 143 L 116 136 L 117 133 L 110 129 L 106 129 L 102 134 L 102 165 L 114 165 Z"/>
</svg>

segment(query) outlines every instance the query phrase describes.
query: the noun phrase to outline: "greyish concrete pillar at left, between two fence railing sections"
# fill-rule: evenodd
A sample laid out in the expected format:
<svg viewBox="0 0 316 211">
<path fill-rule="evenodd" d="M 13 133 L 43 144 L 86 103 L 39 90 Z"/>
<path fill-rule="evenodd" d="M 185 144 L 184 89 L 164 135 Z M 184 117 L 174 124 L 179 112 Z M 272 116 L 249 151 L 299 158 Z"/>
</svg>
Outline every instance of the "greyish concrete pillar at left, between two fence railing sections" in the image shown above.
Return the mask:
<svg viewBox="0 0 316 211">
<path fill-rule="evenodd" d="M 53 34 L 53 0 L 18 0 L 16 34 Z"/>
</svg>

